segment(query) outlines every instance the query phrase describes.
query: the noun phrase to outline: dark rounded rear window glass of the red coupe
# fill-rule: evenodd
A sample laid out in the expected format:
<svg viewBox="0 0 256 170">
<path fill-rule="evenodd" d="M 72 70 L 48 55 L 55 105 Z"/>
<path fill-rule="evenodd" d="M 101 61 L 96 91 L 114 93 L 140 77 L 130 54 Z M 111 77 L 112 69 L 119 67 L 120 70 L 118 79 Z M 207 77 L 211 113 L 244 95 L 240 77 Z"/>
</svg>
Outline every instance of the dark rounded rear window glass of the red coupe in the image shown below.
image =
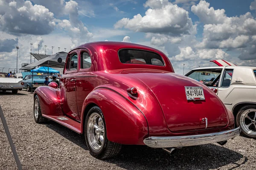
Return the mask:
<svg viewBox="0 0 256 170">
<path fill-rule="evenodd" d="M 119 60 L 125 64 L 147 64 L 164 66 L 163 58 L 154 52 L 122 49 L 118 51 Z"/>
</svg>

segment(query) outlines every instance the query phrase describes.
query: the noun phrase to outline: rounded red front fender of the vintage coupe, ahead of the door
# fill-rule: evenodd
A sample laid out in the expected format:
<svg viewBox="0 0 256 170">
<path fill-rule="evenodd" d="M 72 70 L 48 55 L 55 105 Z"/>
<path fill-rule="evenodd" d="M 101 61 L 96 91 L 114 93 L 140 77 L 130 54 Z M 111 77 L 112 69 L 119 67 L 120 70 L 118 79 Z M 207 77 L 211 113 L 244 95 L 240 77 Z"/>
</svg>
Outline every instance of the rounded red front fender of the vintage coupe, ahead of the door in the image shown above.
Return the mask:
<svg viewBox="0 0 256 170">
<path fill-rule="evenodd" d="M 41 86 L 35 89 L 34 95 L 38 95 L 42 114 L 63 116 L 60 92 L 58 89 L 49 86 Z"/>
</svg>

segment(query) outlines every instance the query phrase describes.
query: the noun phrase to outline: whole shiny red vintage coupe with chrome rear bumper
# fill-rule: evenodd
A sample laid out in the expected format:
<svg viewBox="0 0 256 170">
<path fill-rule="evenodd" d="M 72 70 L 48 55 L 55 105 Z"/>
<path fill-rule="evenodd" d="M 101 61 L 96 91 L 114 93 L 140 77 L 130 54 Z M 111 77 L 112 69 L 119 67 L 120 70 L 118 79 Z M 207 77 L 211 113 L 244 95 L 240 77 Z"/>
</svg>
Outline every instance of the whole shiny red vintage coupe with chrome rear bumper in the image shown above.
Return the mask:
<svg viewBox="0 0 256 170">
<path fill-rule="evenodd" d="M 34 93 L 35 122 L 84 134 L 90 154 L 116 156 L 122 144 L 175 148 L 239 135 L 234 116 L 200 82 L 174 73 L 163 52 L 126 42 L 90 42 L 70 51 L 61 77 Z"/>
</svg>

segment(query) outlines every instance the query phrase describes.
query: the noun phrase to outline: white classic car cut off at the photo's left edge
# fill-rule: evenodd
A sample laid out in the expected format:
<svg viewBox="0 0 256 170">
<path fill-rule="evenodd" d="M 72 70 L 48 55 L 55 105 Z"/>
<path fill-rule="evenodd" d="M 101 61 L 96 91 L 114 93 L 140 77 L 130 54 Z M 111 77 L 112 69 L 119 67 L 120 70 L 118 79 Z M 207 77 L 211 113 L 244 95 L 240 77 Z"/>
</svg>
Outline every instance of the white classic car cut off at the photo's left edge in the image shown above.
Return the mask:
<svg viewBox="0 0 256 170">
<path fill-rule="evenodd" d="M 0 91 L 12 91 L 12 94 L 17 94 L 18 90 L 24 88 L 22 79 L 0 77 Z"/>
</svg>

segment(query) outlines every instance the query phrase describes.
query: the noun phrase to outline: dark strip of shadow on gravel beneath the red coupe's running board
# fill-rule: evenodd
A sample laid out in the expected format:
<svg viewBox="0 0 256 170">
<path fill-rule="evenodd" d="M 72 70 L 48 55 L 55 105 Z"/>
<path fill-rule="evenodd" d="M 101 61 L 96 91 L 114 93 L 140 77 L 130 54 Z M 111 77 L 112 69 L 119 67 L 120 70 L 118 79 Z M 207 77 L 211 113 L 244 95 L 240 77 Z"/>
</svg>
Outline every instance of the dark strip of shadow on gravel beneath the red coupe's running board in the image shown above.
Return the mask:
<svg viewBox="0 0 256 170">
<path fill-rule="evenodd" d="M 78 133 L 74 132 L 73 130 L 70 130 L 67 127 L 64 127 L 52 120 L 48 120 L 48 121 L 49 121 L 49 123 L 46 125 L 46 127 L 54 130 L 55 132 L 57 132 L 64 138 L 68 139 L 70 142 L 73 142 L 74 144 L 78 145 L 82 149 L 88 150 L 83 135 L 79 135 Z"/>
</svg>

